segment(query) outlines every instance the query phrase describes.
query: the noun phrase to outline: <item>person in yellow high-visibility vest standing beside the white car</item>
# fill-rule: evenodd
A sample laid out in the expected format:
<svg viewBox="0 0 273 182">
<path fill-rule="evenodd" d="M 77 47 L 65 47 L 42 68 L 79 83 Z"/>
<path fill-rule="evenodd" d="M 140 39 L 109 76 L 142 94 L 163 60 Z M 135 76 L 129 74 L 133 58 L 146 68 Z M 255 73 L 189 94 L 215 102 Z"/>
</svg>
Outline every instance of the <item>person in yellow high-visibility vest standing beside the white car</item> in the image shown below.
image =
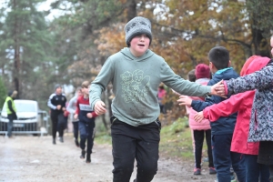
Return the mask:
<svg viewBox="0 0 273 182">
<path fill-rule="evenodd" d="M 12 137 L 14 120 L 17 119 L 16 108 L 15 108 L 15 97 L 17 96 L 17 91 L 8 92 L 5 98 L 6 113 L 8 118 L 7 124 L 7 136 Z"/>
</svg>

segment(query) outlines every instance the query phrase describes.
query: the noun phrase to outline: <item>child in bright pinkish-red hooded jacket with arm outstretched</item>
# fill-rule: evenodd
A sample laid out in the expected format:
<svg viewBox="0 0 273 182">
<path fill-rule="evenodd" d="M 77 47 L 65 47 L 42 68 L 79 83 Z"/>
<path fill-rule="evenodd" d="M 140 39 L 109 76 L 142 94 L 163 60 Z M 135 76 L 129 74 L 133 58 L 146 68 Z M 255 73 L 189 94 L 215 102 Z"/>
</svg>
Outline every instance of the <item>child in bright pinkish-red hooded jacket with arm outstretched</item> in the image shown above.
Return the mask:
<svg viewBox="0 0 273 182">
<path fill-rule="evenodd" d="M 243 66 L 240 75 L 245 76 L 258 71 L 269 62 L 268 57 L 251 56 Z M 249 120 L 255 90 L 230 96 L 223 102 L 206 107 L 199 112 L 195 119 L 197 122 L 204 118 L 215 122 L 220 116 L 229 116 L 238 112 L 237 123 L 232 137 L 230 151 L 245 155 L 246 180 L 248 182 L 269 181 L 269 168 L 266 165 L 258 164 L 258 142 L 248 143 Z"/>
</svg>

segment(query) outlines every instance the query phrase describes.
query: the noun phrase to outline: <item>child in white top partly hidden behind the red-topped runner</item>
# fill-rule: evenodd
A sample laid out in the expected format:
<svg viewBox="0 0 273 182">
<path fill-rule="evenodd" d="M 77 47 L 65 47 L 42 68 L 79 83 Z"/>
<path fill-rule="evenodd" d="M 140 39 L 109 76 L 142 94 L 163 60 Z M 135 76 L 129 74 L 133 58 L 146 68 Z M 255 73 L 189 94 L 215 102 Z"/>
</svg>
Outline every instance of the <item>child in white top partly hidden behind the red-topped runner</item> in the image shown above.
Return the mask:
<svg viewBox="0 0 273 182">
<path fill-rule="evenodd" d="M 77 87 L 76 88 L 76 92 L 75 92 L 75 96 L 72 97 L 69 102 L 68 102 L 68 106 L 67 106 L 67 111 L 70 113 L 70 118 L 73 124 L 73 134 L 74 134 L 74 141 L 76 144 L 76 147 L 79 147 L 79 143 L 78 143 L 78 118 L 74 118 L 74 115 L 76 114 L 76 101 L 77 98 L 83 96 L 82 93 L 82 88 L 81 87 Z"/>
</svg>

